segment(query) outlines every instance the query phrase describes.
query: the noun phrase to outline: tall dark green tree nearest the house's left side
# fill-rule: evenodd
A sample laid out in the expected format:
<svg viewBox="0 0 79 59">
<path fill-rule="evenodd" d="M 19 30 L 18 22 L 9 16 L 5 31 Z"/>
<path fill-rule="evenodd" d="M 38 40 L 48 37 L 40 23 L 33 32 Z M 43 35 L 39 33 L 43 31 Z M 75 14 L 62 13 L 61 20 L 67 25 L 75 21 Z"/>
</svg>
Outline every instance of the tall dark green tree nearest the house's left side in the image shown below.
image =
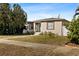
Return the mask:
<svg viewBox="0 0 79 59">
<path fill-rule="evenodd" d="M 14 22 L 16 25 L 16 34 L 22 34 L 24 25 L 26 23 L 27 14 L 21 8 L 19 4 L 13 5 Z"/>
</svg>

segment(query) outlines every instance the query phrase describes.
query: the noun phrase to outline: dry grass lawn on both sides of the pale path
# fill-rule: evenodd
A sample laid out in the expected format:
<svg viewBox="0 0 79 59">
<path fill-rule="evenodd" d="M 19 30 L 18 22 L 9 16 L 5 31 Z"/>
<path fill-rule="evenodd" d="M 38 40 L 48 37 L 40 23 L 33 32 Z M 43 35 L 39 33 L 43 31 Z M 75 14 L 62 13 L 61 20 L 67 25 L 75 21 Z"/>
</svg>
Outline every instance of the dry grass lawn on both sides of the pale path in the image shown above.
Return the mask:
<svg viewBox="0 0 79 59">
<path fill-rule="evenodd" d="M 9 40 L 17 40 L 24 42 L 35 42 L 43 44 L 54 44 L 56 46 L 51 48 L 26 48 L 15 45 L 0 44 L 0 55 L 2 56 L 63 56 L 63 55 L 79 55 L 79 49 L 72 49 L 63 46 L 69 41 L 67 37 L 63 36 L 0 36 L 0 38 L 8 38 Z M 57 46 L 59 45 L 59 46 Z"/>
</svg>

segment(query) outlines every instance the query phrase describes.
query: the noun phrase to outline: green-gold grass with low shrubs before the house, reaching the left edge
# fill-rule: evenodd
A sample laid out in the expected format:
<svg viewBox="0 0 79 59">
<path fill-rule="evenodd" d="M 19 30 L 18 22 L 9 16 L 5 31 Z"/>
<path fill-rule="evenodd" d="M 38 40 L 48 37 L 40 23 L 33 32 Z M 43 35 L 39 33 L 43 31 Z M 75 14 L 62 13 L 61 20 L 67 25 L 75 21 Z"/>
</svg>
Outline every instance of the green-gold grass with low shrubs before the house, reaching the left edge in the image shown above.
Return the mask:
<svg viewBox="0 0 79 59">
<path fill-rule="evenodd" d="M 30 36 L 30 35 L 1 35 L 0 39 L 17 40 L 24 42 L 34 42 L 43 44 L 54 44 L 54 45 L 64 45 L 70 40 L 64 36 L 58 36 L 53 33 L 41 33 L 40 35 Z"/>
</svg>

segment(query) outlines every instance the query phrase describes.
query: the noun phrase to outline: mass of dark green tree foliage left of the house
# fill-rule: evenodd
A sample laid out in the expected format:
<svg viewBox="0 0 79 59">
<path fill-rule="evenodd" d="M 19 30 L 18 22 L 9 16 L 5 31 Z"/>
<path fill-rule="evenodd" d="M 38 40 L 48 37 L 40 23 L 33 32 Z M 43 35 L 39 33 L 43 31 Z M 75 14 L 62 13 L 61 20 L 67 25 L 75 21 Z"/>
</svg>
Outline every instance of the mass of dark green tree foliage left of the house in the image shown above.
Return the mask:
<svg viewBox="0 0 79 59">
<path fill-rule="evenodd" d="M 19 4 L 0 4 L 0 34 L 22 34 L 27 15 Z"/>
</svg>

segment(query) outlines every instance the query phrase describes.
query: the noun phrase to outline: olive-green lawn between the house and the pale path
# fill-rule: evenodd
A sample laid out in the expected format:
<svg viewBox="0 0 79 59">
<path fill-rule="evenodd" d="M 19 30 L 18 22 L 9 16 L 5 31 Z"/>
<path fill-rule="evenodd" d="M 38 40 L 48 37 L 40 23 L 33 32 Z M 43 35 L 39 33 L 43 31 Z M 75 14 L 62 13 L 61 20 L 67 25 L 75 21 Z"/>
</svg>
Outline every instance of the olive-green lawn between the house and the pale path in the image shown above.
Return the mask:
<svg viewBox="0 0 79 59">
<path fill-rule="evenodd" d="M 48 35 L 36 35 L 36 36 L 25 36 L 10 38 L 9 40 L 18 40 L 24 42 L 34 42 L 34 43 L 44 43 L 44 44 L 55 44 L 55 45 L 64 45 L 69 41 L 67 37 L 63 36 L 48 36 Z"/>
</svg>

